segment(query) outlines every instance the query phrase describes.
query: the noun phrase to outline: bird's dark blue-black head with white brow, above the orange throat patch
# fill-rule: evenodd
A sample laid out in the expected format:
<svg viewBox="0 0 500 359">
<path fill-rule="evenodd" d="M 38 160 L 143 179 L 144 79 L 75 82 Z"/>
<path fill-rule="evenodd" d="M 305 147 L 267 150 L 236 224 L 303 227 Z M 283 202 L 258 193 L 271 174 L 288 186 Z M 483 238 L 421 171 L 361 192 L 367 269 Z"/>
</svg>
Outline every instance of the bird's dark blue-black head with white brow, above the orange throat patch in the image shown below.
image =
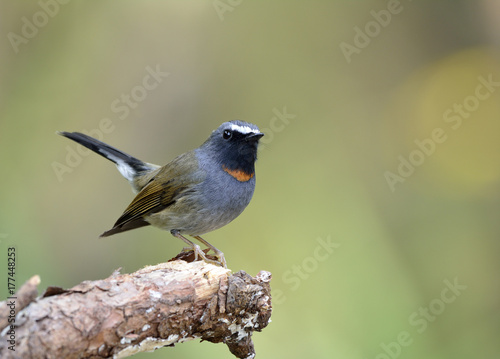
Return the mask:
<svg viewBox="0 0 500 359">
<path fill-rule="evenodd" d="M 231 121 L 223 123 L 207 142 L 226 168 L 253 174 L 257 146 L 262 136 L 259 128 L 251 123 Z"/>
</svg>

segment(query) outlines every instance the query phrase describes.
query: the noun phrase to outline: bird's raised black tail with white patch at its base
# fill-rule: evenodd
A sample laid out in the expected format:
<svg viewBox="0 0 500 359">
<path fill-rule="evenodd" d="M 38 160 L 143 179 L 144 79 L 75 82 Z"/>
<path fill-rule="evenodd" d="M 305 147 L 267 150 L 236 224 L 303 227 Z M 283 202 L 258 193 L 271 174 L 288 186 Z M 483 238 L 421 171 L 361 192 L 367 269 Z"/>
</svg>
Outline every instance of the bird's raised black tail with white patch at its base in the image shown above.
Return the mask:
<svg viewBox="0 0 500 359">
<path fill-rule="evenodd" d="M 143 162 L 135 157 L 126 154 L 104 142 L 96 140 L 93 137 L 84 135 L 80 132 L 57 132 L 57 134 L 67 137 L 82 146 L 94 151 L 95 153 L 106 157 L 108 160 L 114 162 L 118 171 L 125 177 L 131 184 L 134 179 L 141 174 L 154 171 L 159 168 L 157 165 Z"/>
</svg>

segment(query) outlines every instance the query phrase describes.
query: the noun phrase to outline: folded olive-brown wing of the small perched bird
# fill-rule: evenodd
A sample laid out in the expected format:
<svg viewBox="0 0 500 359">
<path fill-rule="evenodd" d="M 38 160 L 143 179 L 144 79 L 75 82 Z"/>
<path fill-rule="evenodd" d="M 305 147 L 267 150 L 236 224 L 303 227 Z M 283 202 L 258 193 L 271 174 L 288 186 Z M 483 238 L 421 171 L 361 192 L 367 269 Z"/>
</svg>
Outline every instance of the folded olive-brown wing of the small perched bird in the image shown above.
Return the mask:
<svg viewBox="0 0 500 359">
<path fill-rule="evenodd" d="M 137 194 L 113 228 L 101 234 L 101 237 L 147 226 L 149 223 L 144 220 L 145 215 L 171 206 L 183 191 L 201 182 L 203 178 L 193 152 L 177 157 L 160 169 Z"/>
</svg>

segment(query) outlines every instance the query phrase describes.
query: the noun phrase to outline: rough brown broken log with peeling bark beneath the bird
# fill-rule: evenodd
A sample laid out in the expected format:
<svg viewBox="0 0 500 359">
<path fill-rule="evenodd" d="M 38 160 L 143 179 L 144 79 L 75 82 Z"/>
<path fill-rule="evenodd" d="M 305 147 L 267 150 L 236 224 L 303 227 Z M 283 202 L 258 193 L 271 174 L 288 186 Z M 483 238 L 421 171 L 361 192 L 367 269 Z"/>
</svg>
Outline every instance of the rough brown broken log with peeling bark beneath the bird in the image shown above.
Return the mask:
<svg viewBox="0 0 500 359">
<path fill-rule="evenodd" d="M 270 280 L 176 260 L 36 298 L 35 276 L 16 295 L 15 351 L 0 303 L 0 357 L 118 359 L 199 338 L 253 358 L 252 334 L 270 322 Z"/>
</svg>

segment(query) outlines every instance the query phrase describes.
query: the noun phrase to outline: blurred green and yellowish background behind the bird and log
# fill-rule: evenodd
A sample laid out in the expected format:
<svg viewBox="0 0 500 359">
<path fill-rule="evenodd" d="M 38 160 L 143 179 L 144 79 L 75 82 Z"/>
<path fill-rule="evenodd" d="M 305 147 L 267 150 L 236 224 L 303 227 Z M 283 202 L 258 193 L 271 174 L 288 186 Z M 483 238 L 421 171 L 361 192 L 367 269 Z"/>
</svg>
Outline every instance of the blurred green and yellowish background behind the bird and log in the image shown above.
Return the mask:
<svg viewBox="0 0 500 359">
<path fill-rule="evenodd" d="M 259 358 L 498 357 L 499 2 L 2 1 L 0 30 L 0 265 L 16 246 L 17 283 L 183 247 L 155 228 L 98 239 L 133 194 L 55 131 L 165 164 L 242 119 L 266 133 L 256 192 L 205 238 L 233 271 L 273 273 Z M 195 356 L 231 354 L 136 357 Z"/>
</svg>

